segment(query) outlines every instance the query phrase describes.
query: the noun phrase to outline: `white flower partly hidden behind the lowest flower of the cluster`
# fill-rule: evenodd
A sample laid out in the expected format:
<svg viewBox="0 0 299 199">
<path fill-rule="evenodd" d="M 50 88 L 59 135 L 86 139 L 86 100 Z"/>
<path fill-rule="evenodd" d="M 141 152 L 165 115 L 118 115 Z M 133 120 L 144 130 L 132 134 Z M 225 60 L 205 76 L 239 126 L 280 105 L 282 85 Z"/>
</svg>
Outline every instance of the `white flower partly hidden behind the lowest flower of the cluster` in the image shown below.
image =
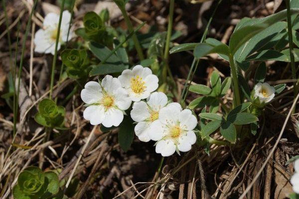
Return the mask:
<svg viewBox="0 0 299 199">
<path fill-rule="evenodd" d="M 167 104 L 167 96 L 162 92 L 152 93 L 147 102 L 134 102 L 131 117 L 138 122 L 135 126 L 135 134 L 143 142 L 150 140 L 151 124 L 159 118 L 159 110 Z"/>
</svg>

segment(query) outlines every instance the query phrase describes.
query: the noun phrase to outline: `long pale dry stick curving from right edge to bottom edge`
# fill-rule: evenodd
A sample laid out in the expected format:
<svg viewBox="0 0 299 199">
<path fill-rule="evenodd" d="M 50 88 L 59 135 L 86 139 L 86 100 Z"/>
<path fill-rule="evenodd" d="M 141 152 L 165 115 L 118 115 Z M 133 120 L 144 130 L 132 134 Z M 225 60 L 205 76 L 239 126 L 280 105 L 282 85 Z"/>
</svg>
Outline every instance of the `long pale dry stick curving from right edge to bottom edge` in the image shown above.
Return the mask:
<svg viewBox="0 0 299 199">
<path fill-rule="evenodd" d="M 262 168 L 259 170 L 259 172 L 257 173 L 257 175 L 254 177 L 254 179 L 252 180 L 252 182 L 251 182 L 251 183 L 249 184 L 249 186 L 246 188 L 246 190 L 244 191 L 244 193 L 239 197 L 239 199 L 243 199 L 243 198 L 246 196 L 246 194 L 250 191 L 250 189 L 252 188 L 253 184 L 256 182 L 256 180 L 259 178 L 259 176 L 260 176 L 261 173 L 263 172 L 264 168 L 266 167 L 268 161 L 270 160 L 271 156 L 272 156 L 273 153 L 274 153 L 275 148 L 277 147 L 277 145 L 278 145 L 280 139 L 282 138 L 282 135 L 283 135 L 283 133 L 284 133 L 284 131 L 285 131 L 285 128 L 286 128 L 287 123 L 288 123 L 288 120 L 289 120 L 289 118 L 290 118 L 290 116 L 291 116 L 291 114 L 292 114 L 292 110 L 293 110 L 293 108 L 295 107 L 295 104 L 296 104 L 298 98 L 299 98 L 299 95 L 297 95 L 296 99 L 294 100 L 294 102 L 293 102 L 293 104 L 292 104 L 292 106 L 291 106 L 291 109 L 290 109 L 290 111 L 289 111 L 289 113 L 288 113 L 288 115 L 287 115 L 287 118 L 286 118 L 286 120 L 285 120 L 285 122 L 284 122 L 283 128 L 282 128 L 282 130 L 281 130 L 281 132 L 280 132 L 280 134 L 279 134 L 279 136 L 278 136 L 278 139 L 276 140 L 276 142 L 275 142 L 275 144 L 274 144 L 272 150 L 270 151 L 269 155 L 267 156 L 266 161 L 263 163 Z"/>
</svg>

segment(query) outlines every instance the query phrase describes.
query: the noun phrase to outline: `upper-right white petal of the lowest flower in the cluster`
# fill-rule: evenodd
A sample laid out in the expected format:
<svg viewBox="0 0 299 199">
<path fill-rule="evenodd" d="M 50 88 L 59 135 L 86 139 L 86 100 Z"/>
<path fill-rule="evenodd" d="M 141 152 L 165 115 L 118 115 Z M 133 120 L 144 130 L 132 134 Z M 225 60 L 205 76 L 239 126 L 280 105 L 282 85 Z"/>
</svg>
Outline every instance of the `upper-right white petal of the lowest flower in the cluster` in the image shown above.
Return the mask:
<svg viewBox="0 0 299 199">
<path fill-rule="evenodd" d="M 193 130 L 197 125 L 197 119 L 189 109 L 184 109 L 179 113 L 179 121 L 184 130 Z"/>
</svg>

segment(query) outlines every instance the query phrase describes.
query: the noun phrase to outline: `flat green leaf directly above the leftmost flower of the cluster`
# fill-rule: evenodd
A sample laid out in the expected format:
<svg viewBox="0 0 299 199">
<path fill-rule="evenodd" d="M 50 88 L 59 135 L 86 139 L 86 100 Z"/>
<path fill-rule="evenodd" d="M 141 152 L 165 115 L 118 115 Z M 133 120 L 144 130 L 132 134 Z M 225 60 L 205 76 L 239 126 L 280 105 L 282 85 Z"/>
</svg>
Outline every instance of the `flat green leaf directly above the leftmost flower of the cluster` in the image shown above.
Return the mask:
<svg viewBox="0 0 299 199">
<path fill-rule="evenodd" d="M 89 73 L 90 76 L 96 75 L 107 75 L 111 73 L 121 73 L 125 69 L 122 65 L 114 65 L 114 64 L 99 64 L 95 66 Z"/>
</svg>

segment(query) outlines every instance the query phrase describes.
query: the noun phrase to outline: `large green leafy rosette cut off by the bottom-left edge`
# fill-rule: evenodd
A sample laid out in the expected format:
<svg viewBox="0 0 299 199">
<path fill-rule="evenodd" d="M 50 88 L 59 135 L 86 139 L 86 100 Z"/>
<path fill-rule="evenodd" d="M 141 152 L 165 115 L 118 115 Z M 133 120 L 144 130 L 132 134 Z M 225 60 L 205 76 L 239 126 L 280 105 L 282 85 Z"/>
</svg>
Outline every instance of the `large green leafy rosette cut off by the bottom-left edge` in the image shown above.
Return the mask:
<svg viewBox="0 0 299 199">
<path fill-rule="evenodd" d="M 48 171 L 43 172 L 38 167 L 27 167 L 22 171 L 17 184 L 13 187 L 14 199 L 47 199 L 59 192 L 59 180 L 57 174 Z"/>
</svg>

